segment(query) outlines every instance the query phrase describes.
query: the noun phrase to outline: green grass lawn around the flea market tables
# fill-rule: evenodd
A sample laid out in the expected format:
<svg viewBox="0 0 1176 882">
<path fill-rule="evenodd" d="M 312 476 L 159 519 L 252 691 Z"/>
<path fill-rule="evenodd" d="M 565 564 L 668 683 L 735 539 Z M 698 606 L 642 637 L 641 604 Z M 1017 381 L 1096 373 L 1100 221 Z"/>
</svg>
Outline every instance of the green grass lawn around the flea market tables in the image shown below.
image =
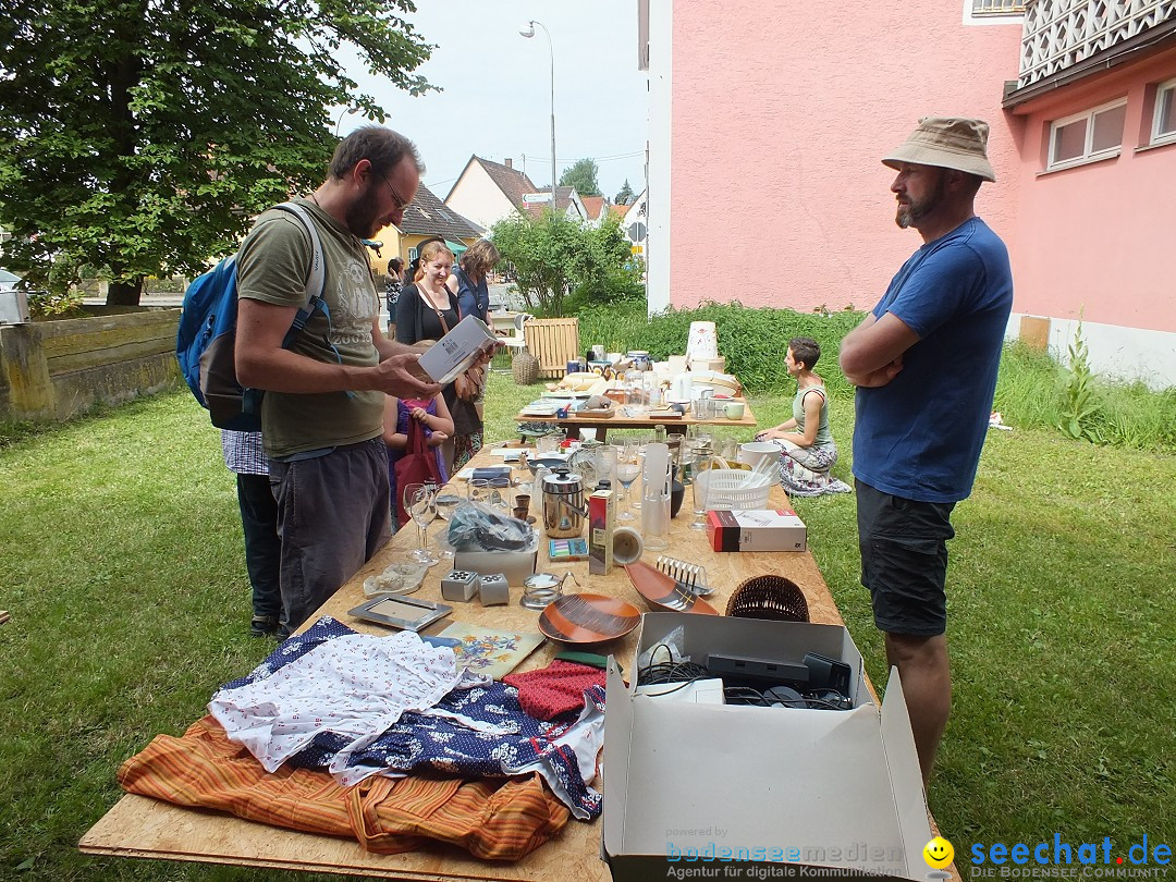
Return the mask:
<svg viewBox="0 0 1176 882">
<path fill-rule="evenodd" d="M 494 376 L 488 436 L 539 390 Z M 789 403 L 753 399 L 761 425 Z M 834 405 L 850 480 L 851 402 Z M 955 704 L 930 796 L 957 853 L 1055 831 L 1174 844 L 1174 488 L 1171 456 L 990 434 L 950 544 Z M 796 508 L 884 683 L 853 496 Z M 119 763 L 272 647 L 246 636 L 234 485 L 206 414 L 185 390 L 12 437 L 0 536 L 0 878 L 269 877 L 75 849 L 119 799 Z"/>
</svg>

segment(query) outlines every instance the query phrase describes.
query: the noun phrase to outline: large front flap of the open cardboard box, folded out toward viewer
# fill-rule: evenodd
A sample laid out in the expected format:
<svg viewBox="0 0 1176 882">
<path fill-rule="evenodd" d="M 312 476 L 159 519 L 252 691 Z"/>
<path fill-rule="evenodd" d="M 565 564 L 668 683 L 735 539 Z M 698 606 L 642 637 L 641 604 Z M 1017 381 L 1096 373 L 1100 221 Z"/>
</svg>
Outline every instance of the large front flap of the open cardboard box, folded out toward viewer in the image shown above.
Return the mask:
<svg viewBox="0 0 1176 882">
<path fill-rule="evenodd" d="M 627 817 L 620 837 L 606 827 L 609 854 L 795 847 L 794 862 L 906 873 L 901 849 L 876 848 L 901 840 L 874 706 L 799 710 L 626 694 L 609 713 L 627 703 L 629 775 L 623 799 L 606 800 L 604 822 L 616 821 L 616 802 Z M 615 797 L 614 783 L 606 780 L 604 791 Z"/>
</svg>

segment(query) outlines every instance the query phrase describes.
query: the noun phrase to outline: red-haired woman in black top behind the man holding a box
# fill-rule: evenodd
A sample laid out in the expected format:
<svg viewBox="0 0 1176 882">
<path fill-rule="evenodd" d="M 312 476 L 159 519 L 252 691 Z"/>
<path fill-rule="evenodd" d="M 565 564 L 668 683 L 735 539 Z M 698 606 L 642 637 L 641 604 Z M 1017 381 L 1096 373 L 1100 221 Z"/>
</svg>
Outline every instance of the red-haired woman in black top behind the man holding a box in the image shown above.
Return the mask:
<svg viewBox="0 0 1176 882">
<path fill-rule="evenodd" d="M 429 242 L 421 248 L 416 279 L 400 292 L 396 301 L 396 340 L 416 343 L 440 340 L 461 320 L 457 298 L 446 287 L 453 270 L 453 252 L 445 242 Z M 482 419 L 474 399 L 481 392 L 480 369 L 472 368 L 441 389 L 453 416 L 453 450 L 446 443 L 449 474 L 465 466 L 482 449 Z"/>
</svg>

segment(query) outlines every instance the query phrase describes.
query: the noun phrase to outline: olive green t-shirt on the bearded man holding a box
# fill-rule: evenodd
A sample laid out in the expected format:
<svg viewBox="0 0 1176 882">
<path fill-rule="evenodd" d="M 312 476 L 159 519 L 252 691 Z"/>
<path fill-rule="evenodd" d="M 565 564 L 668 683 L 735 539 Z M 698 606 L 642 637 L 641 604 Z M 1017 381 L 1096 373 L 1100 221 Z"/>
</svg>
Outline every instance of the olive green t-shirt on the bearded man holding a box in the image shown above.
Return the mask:
<svg viewBox="0 0 1176 882">
<path fill-rule="evenodd" d="M 322 241 L 326 273 L 322 298 L 330 309 L 330 322 L 328 326 L 326 316 L 315 312 L 290 350 L 332 365 L 339 359 L 345 365 L 375 365 L 379 353 L 372 342 L 372 326 L 380 301 L 367 249 L 314 202 L 296 201 L 316 221 Z M 310 236 L 302 221 L 289 212 L 265 212 L 238 252 L 238 296 L 280 306 L 306 306 L 312 255 Z M 376 437 L 382 430 L 382 392 L 352 395 L 267 392 L 261 406 L 262 439 L 266 454 L 273 457 L 358 443 Z"/>
</svg>

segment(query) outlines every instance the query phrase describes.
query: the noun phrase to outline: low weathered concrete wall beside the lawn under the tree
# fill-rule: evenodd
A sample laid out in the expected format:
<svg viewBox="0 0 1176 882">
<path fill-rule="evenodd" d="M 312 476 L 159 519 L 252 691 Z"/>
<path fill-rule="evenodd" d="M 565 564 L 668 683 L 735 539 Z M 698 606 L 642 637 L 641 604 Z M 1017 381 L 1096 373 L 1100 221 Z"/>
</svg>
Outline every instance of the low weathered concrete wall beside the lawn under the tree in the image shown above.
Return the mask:
<svg viewBox="0 0 1176 882">
<path fill-rule="evenodd" d="M 179 309 L 0 327 L 0 419 L 67 420 L 174 385 Z"/>
</svg>

